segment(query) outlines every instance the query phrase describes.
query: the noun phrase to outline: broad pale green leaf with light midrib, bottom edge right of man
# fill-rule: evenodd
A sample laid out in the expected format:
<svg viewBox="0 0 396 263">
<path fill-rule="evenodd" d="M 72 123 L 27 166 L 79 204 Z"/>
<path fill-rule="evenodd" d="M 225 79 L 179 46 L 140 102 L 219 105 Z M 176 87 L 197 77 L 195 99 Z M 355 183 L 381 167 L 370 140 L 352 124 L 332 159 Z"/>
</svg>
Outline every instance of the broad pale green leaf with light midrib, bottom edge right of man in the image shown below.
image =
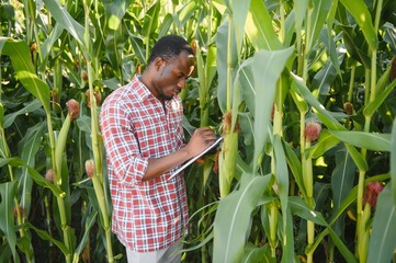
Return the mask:
<svg viewBox="0 0 396 263">
<path fill-rule="evenodd" d="M 224 197 L 214 225 L 214 262 L 239 262 L 242 256 L 252 210 L 262 196 L 270 175 L 242 175 L 240 188 Z"/>
</svg>

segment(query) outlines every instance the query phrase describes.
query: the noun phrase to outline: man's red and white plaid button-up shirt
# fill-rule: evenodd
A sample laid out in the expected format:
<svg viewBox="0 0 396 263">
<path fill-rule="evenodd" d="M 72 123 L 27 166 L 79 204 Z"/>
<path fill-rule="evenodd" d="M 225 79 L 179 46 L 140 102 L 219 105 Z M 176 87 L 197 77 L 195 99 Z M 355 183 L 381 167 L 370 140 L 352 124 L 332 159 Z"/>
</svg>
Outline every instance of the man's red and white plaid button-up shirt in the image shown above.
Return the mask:
<svg viewBox="0 0 396 263">
<path fill-rule="evenodd" d="M 148 159 L 184 145 L 179 96 L 155 98 L 137 76 L 104 101 L 100 126 L 113 203 L 112 230 L 136 252 L 152 252 L 180 240 L 188 221 L 183 174 L 171 171 L 143 182 Z"/>
</svg>

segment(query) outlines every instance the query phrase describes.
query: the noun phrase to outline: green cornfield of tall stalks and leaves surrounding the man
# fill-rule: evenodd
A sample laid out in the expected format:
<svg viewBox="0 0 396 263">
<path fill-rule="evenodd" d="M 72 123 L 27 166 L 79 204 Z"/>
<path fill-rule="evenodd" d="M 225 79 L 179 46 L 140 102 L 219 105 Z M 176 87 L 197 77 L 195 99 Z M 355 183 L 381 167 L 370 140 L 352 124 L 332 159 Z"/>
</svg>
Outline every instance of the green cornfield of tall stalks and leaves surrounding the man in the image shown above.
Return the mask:
<svg viewBox="0 0 396 263">
<path fill-rule="evenodd" d="M 126 262 L 101 102 L 167 34 L 196 67 L 183 262 L 396 262 L 396 1 L 2 0 L 0 262 Z"/>
</svg>

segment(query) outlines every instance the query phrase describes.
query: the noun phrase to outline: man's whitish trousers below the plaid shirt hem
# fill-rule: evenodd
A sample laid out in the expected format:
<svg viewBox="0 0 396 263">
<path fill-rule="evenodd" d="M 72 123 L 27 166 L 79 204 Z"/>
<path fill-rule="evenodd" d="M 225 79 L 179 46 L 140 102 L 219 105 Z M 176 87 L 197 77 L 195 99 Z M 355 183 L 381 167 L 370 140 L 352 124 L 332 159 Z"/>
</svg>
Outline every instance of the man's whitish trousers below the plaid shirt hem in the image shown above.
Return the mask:
<svg viewBox="0 0 396 263">
<path fill-rule="evenodd" d="M 155 252 L 139 253 L 126 248 L 128 263 L 180 263 L 181 242 L 176 242 L 168 248 Z"/>
</svg>

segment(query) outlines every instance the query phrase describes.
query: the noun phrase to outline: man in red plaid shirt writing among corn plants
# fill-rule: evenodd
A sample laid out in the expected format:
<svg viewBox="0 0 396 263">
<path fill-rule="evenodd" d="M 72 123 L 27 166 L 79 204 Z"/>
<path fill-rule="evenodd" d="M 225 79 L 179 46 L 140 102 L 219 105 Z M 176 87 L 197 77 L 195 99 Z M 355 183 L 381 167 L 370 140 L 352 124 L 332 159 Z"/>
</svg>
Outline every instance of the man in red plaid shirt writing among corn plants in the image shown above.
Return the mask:
<svg viewBox="0 0 396 263">
<path fill-rule="evenodd" d="M 176 35 L 160 38 L 147 69 L 104 101 L 100 125 L 113 203 L 112 230 L 128 262 L 180 262 L 188 221 L 183 174 L 172 170 L 216 139 L 197 128 L 184 144 L 180 91 L 194 69 L 194 52 Z"/>
</svg>

